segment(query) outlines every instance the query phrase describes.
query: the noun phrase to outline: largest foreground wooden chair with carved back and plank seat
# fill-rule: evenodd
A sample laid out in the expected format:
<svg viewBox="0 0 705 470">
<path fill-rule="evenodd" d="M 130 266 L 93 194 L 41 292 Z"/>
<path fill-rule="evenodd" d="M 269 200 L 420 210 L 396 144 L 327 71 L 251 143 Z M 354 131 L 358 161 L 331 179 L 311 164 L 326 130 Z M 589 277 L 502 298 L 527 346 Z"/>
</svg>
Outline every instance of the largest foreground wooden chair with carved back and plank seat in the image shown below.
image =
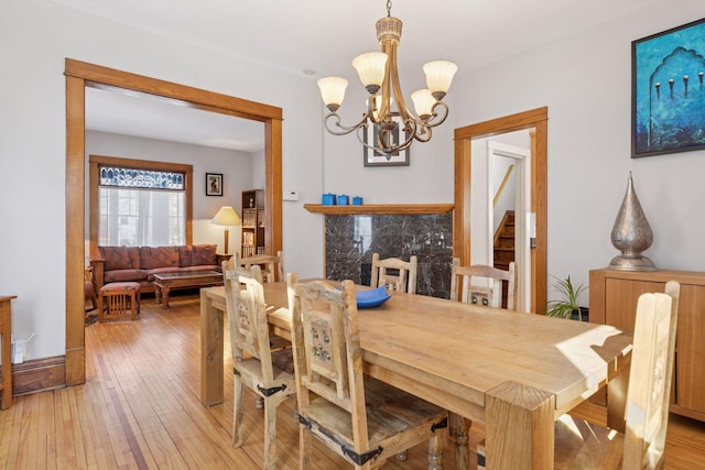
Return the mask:
<svg viewBox="0 0 705 470">
<path fill-rule="evenodd" d="M 440 469 L 447 413 L 362 373 L 352 281 L 341 289 L 288 275 L 300 420 L 300 468 L 310 469 L 312 436 L 356 469 L 371 469 L 403 449 L 429 442 Z"/>
</svg>

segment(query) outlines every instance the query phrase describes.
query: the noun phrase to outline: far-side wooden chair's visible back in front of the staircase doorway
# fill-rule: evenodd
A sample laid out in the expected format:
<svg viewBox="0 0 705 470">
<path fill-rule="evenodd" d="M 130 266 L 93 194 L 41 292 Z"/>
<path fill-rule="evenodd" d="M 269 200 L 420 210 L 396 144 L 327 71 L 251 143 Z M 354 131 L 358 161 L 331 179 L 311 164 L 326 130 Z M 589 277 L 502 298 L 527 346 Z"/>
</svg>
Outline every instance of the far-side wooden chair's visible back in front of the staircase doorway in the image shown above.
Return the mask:
<svg viewBox="0 0 705 470">
<path fill-rule="evenodd" d="M 482 281 L 478 282 L 478 278 Z M 502 302 L 503 283 L 507 283 L 506 302 Z M 517 270 L 514 262 L 509 263 L 509 269 L 503 271 L 485 264 L 462 266 L 459 259 L 453 259 L 451 300 L 514 310 L 517 308 L 516 298 Z"/>
</svg>

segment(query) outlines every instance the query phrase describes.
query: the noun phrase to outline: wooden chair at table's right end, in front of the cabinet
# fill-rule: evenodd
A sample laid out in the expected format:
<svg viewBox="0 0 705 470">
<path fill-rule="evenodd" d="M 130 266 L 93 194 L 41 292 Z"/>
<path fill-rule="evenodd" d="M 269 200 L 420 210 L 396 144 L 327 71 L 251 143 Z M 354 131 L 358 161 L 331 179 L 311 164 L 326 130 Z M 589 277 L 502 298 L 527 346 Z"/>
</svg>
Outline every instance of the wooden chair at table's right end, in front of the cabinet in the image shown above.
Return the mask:
<svg viewBox="0 0 705 470">
<path fill-rule="evenodd" d="M 679 283 L 671 281 L 666 283 L 664 294 L 639 297 L 625 408 L 626 433 L 563 415 L 555 424 L 554 468 L 663 468 L 679 293 Z M 480 442 L 480 469 L 485 468 L 484 458 L 485 448 Z"/>
</svg>

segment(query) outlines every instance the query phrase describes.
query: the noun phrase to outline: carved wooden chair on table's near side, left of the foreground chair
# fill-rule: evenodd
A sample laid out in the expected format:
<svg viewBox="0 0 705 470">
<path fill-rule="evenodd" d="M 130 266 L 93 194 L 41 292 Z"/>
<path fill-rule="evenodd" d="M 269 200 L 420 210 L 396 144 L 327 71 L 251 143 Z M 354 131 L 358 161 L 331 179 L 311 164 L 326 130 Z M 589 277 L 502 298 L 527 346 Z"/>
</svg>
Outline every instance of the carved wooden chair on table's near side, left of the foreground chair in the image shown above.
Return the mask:
<svg viewBox="0 0 705 470">
<path fill-rule="evenodd" d="M 224 262 L 224 264 L 227 262 Z M 242 445 L 242 385 L 264 403 L 263 468 L 279 468 L 276 459 L 276 407 L 296 392 L 292 350 L 270 349 L 267 307 L 258 265 L 250 270 L 235 267 L 225 273 L 226 310 L 232 348 L 234 406 L 232 447 Z M 242 288 L 245 287 L 245 288 Z"/>
</svg>

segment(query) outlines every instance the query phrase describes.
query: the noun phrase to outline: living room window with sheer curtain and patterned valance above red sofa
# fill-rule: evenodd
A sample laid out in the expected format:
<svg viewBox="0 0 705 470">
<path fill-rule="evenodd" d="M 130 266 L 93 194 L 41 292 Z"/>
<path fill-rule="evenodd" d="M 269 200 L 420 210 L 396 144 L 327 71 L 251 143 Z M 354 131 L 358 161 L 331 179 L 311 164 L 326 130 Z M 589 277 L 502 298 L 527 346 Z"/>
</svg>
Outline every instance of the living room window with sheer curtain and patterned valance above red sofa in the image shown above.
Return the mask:
<svg viewBox="0 0 705 470">
<path fill-rule="evenodd" d="M 91 245 L 191 243 L 191 165 L 91 156 L 90 172 Z"/>
</svg>

